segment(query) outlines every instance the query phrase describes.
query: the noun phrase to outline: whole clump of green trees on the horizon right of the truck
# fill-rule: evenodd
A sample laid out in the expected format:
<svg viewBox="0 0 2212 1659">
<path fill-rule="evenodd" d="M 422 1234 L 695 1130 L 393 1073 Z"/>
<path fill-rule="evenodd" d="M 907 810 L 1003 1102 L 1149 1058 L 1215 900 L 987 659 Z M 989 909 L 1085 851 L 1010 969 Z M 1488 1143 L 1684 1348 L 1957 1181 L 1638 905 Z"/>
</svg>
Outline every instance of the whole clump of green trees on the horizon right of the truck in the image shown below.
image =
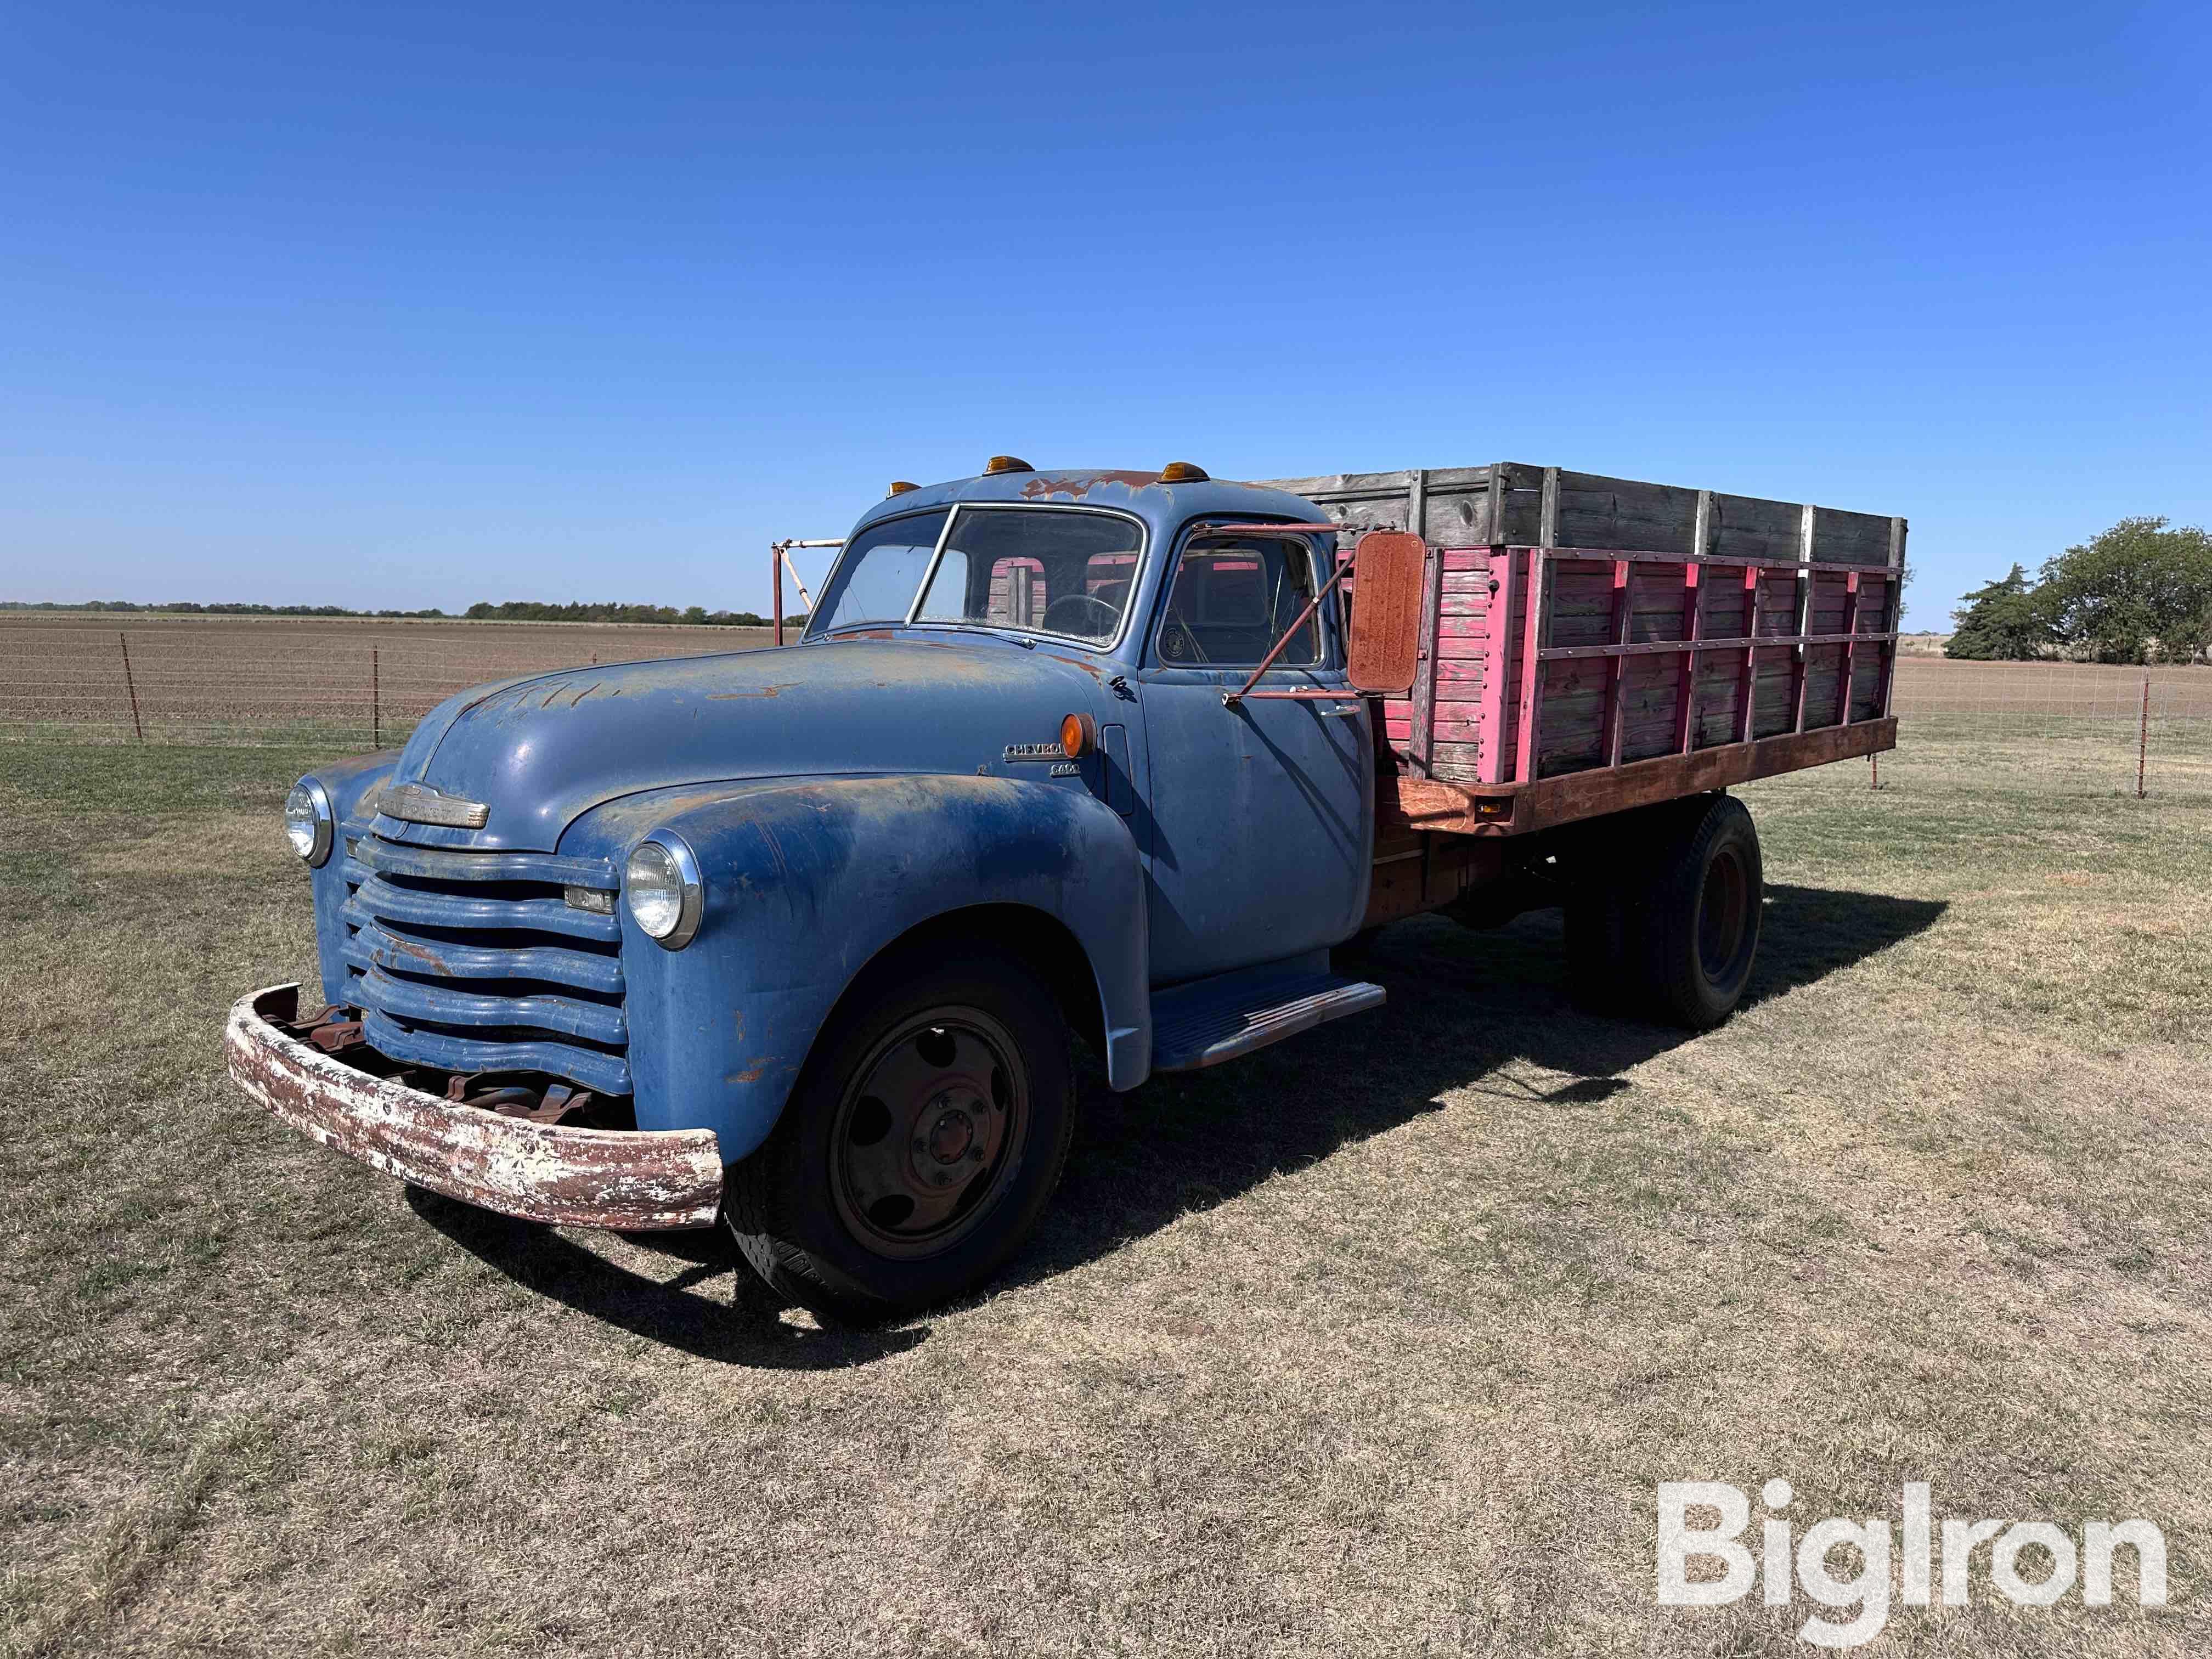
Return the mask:
<svg viewBox="0 0 2212 1659">
<path fill-rule="evenodd" d="M 2212 535 L 2124 518 L 2044 562 L 1960 595 L 1947 657 L 2199 661 L 2212 655 Z"/>
</svg>

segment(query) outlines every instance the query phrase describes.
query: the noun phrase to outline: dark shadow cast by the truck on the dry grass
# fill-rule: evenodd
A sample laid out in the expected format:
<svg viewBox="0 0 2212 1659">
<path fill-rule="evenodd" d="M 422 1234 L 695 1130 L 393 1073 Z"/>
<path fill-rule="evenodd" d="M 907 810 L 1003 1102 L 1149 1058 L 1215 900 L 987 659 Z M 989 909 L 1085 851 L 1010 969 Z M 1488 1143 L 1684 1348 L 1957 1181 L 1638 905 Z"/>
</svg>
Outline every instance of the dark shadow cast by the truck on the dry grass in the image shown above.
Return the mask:
<svg viewBox="0 0 2212 1659">
<path fill-rule="evenodd" d="M 1927 931 L 1942 902 L 1825 887 L 1767 887 L 1756 1006 Z M 1672 1026 L 1588 1015 L 1566 1000 L 1557 911 L 1473 933 L 1438 916 L 1383 933 L 1360 964 L 1389 989 L 1374 1015 L 1343 1020 L 1232 1066 L 1155 1077 L 1115 1095 L 1084 1066 L 1084 1117 L 1060 1194 L 1037 1234 L 989 1287 L 1040 1283 L 1095 1261 L 1190 1210 L 1225 1203 L 1340 1146 L 1442 1110 L 1478 1088 L 1557 1106 L 1630 1088 L 1626 1071 L 1686 1042 Z M 1509 1075 L 1564 1075 L 1548 1088 Z M 515 1283 L 633 1336 L 699 1358 L 772 1369 L 841 1369 L 902 1354 L 927 1325 L 801 1329 L 754 1294 L 728 1234 L 633 1234 L 679 1263 L 653 1279 L 573 1239 L 429 1192 L 416 1212 Z M 737 1283 L 737 1305 L 728 1285 Z M 712 1294 L 708 1294 L 712 1290 Z"/>
</svg>

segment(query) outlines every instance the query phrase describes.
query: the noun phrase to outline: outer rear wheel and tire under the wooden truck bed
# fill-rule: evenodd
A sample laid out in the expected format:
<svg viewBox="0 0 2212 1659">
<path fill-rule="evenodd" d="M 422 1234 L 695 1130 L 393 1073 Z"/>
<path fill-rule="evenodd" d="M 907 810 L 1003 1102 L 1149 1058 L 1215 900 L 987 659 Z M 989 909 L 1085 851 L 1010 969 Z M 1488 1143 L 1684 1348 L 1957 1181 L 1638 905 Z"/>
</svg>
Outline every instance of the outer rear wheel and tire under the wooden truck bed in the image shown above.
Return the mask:
<svg viewBox="0 0 2212 1659">
<path fill-rule="evenodd" d="M 1670 830 L 1652 847 L 1621 942 L 1650 1013 L 1712 1031 L 1743 1002 L 1759 958 L 1759 830 L 1728 794 L 1674 818 Z"/>
</svg>

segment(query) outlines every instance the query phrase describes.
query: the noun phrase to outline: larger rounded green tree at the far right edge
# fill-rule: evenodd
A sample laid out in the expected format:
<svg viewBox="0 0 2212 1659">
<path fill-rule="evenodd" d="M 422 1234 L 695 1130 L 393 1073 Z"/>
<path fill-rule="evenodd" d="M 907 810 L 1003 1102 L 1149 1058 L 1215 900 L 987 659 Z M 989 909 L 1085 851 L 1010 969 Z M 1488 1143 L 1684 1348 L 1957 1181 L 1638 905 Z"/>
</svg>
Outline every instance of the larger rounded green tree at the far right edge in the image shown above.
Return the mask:
<svg viewBox="0 0 2212 1659">
<path fill-rule="evenodd" d="M 2097 661 L 2190 661 L 2212 646 L 2212 535 L 2124 518 L 2044 564 L 2035 599 Z"/>
</svg>

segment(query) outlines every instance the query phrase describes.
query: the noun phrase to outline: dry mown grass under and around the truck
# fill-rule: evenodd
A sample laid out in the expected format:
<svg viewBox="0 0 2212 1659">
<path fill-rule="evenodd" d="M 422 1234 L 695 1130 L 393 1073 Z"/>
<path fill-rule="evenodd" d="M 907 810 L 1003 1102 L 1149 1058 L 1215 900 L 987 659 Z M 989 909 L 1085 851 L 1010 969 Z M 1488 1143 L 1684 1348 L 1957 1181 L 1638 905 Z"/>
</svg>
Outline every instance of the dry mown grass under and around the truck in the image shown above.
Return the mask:
<svg viewBox="0 0 2212 1659">
<path fill-rule="evenodd" d="M 1652 1597 L 1655 1482 L 1770 1475 L 2166 1531 L 2163 1613 L 1978 1568 L 1869 1652 L 2212 1650 L 2212 803 L 2037 754 L 1745 790 L 1705 1037 L 1575 1013 L 1551 916 L 1400 925 L 1385 1011 L 1093 1079 L 1013 1272 L 854 1334 L 228 1086 L 310 754 L 0 745 L 0 1650 L 1807 1652 Z"/>
</svg>

